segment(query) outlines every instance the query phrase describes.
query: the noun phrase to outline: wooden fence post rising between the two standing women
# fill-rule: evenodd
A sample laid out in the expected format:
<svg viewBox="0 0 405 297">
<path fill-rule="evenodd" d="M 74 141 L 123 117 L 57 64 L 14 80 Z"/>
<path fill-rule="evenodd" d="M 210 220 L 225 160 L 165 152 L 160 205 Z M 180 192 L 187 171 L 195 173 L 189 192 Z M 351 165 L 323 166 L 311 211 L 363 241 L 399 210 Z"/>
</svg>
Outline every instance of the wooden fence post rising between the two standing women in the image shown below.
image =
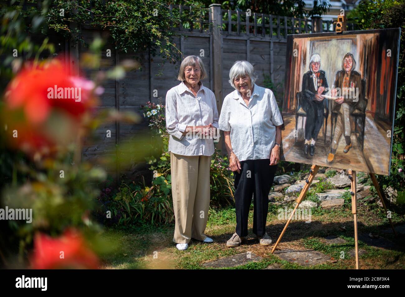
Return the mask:
<svg viewBox="0 0 405 297">
<path fill-rule="evenodd" d="M 222 26 L 222 11 L 221 11 L 221 4 L 210 4 L 209 6 L 209 13 L 211 15 L 212 21 L 212 61 L 213 61 L 213 72 L 211 76 L 213 76 L 213 92 L 215 94 L 215 99 L 217 101 L 217 109 L 218 113 L 221 113 L 222 107 L 222 35 L 221 35 L 221 26 Z M 224 137 L 220 138 L 220 141 L 217 143 L 217 149 L 221 150 L 223 154 L 224 152 Z"/>
</svg>

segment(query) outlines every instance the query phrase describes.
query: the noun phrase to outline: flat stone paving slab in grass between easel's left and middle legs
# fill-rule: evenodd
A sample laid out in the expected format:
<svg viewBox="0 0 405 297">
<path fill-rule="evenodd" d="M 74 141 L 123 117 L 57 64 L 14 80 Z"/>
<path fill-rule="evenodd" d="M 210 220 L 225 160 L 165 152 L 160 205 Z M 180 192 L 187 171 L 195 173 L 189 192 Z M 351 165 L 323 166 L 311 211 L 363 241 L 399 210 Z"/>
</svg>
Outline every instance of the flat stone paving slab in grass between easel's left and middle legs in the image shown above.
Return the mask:
<svg viewBox="0 0 405 297">
<path fill-rule="evenodd" d="M 292 249 L 284 249 L 275 251 L 274 254 L 283 260 L 303 266 L 323 264 L 330 260 L 330 256 L 314 250 L 296 251 Z"/>
</svg>

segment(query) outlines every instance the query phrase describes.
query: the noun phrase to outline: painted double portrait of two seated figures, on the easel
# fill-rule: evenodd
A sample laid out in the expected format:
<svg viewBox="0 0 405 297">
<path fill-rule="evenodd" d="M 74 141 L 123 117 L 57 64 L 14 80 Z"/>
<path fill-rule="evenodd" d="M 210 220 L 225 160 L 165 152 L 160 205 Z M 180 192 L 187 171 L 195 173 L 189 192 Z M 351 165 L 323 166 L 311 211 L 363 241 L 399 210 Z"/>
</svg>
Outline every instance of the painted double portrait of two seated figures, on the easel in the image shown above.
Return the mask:
<svg viewBox="0 0 405 297">
<path fill-rule="evenodd" d="M 288 35 L 282 160 L 389 175 L 399 36 Z"/>
</svg>

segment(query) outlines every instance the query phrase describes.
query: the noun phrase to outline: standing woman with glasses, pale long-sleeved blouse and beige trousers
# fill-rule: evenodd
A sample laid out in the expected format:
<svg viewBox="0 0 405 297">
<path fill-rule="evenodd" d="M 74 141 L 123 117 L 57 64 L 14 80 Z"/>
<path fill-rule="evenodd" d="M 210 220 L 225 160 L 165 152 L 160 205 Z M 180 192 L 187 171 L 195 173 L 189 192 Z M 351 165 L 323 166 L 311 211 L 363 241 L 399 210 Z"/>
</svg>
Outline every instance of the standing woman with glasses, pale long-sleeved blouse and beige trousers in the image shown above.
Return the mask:
<svg viewBox="0 0 405 297">
<path fill-rule="evenodd" d="M 209 169 L 217 135 L 218 110 L 214 93 L 200 81 L 207 76 L 200 57 L 180 65 L 181 83 L 166 94 L 166 128 L 170 152 L 175 234 L 179 250 L 191 238 L 213 242 L 204 234 L 209 210 Z"/>
</svg>

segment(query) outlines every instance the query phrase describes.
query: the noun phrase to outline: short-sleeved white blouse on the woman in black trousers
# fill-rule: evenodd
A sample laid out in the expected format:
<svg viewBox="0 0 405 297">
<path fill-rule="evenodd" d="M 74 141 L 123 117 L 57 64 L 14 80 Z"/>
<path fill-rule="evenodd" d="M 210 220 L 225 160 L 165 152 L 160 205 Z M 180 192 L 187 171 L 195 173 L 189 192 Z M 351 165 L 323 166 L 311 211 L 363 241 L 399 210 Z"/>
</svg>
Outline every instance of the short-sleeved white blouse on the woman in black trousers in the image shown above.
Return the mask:
<svg viewBox="0 0 405 297">
<path fill-rule="evenodd" d="M 283 120 L 273 92 L 254 84 L 249 106 L 237 90 L 225 97 L 219 124 L 221 130 L 230 131 L 234 154 L 245 161 L 270 158 L 275 126 Z"/>
</svg>

